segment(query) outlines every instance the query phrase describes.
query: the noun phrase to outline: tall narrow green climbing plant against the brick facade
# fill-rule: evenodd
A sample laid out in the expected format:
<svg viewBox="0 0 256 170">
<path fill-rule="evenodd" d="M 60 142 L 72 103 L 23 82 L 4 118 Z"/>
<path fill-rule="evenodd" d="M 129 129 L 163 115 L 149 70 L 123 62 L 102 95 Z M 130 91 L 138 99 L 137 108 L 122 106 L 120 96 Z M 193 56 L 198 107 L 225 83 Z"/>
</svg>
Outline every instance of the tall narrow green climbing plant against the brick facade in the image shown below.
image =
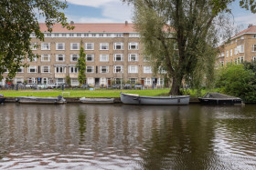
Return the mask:
<svg viewBox="0 0 256 170">
<path fill-rule="evenodd" d="M 86 81 L 86 75 L 85 75 L 86 61 L 85 61 L 85 53 L 82 45 L 83 43 L 82 41 L 80 41 L 80 57 L 78 59 L 78 64 L 76 65 L 76 67 L 79 69 L 78 80 L 80 82 L 80 85 L 84 84 Z"/>
</svg>

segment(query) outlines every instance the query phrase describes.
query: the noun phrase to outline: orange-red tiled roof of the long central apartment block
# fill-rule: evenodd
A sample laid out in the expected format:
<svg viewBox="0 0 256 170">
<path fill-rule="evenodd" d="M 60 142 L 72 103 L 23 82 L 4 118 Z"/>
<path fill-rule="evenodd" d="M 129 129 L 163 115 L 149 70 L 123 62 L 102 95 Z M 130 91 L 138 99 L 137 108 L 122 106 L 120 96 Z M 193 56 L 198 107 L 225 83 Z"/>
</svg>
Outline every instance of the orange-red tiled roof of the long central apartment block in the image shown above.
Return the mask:
<svg viewBox="0 0 256 170">
<path fill-rule="evenodd" d="M 45 23 L 40 23 L 40 30 L 41 32 L 48 32 L 48 27 Z M 68 30 L 67 28 L 63 28 L 61 24 L 55 24 L 52 27 L 52 32 L 91 32 L 91 33 L 133 33 L 137 32 L 134 29 L 133 24 L 106 24 L 106 23 L 96 23 L 96 24 L 74 24 L 75 28 L 73 30 Z"/>
</svg>

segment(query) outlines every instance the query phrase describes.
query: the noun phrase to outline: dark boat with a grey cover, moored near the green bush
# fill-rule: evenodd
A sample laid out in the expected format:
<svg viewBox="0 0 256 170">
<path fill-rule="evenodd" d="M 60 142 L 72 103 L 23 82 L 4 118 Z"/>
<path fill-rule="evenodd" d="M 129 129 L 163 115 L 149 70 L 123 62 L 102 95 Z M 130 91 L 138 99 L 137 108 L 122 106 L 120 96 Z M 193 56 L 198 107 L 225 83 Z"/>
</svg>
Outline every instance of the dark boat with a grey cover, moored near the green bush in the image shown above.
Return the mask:
<svg viewBox="0 0 256 170">
<path fill-rule="evenodd" d="M 219 93 L 207 93 L 203 97 L 198 97 L 201 104 L 207 105 L 235 105 L 242 104 L 239 97 L 223 95 Z"/>
</svg>

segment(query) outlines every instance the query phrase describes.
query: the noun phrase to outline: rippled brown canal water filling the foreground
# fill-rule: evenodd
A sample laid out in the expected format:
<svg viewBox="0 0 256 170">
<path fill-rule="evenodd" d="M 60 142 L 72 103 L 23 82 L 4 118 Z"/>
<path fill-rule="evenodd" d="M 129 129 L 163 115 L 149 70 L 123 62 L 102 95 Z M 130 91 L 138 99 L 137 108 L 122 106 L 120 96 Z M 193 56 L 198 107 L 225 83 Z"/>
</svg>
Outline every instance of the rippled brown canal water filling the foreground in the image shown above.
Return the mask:
<svg viewBox="0 0 256 170">
<path fill-rule="evenodd" d="M 256 105 L 0 105 L 0 169 L 256 169 Z"/>
</svg>

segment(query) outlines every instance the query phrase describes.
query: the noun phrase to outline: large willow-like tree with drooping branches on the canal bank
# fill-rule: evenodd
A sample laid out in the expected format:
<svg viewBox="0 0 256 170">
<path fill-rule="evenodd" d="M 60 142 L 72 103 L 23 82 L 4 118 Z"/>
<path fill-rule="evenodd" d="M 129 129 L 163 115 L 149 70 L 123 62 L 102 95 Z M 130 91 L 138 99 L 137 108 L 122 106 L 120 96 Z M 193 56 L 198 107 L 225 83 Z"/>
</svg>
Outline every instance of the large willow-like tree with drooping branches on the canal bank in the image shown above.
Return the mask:
<svg viewBox="0 0 256 170">
<path fill-rule="evenodd" d="M 134 5 L 133 22 L 155 72 L 162 67 L 172 81 L 171 95 L 182 83 L 195 87 L 213 79 L 220 14 L 233 0 L 123 0 Z M 247 0 L 242 0 L 246 2 Z"/>
</svg>

